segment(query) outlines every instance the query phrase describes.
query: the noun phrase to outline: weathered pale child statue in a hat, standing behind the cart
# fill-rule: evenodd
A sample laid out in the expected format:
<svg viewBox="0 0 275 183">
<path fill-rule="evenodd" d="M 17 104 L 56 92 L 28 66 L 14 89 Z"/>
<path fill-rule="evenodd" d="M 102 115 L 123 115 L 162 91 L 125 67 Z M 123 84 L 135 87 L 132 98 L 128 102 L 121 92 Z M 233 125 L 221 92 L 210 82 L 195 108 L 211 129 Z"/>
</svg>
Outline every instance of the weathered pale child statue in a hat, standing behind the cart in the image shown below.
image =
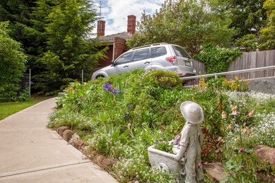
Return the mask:
<svg viewBox="0 0 275 183">
<path fill-rule="evenodd" d="M 175 160 L 184 164 L 186 183 L 204 182 L 201 165 L 203 134 L 199 127 L 199 123 L 203 121 L 203 110 L 201 106 L 192 101 L 181 103 L 180 109 L 186 119 L 186 124 L 181 131 L 179 151 Z"/>
</svg>

